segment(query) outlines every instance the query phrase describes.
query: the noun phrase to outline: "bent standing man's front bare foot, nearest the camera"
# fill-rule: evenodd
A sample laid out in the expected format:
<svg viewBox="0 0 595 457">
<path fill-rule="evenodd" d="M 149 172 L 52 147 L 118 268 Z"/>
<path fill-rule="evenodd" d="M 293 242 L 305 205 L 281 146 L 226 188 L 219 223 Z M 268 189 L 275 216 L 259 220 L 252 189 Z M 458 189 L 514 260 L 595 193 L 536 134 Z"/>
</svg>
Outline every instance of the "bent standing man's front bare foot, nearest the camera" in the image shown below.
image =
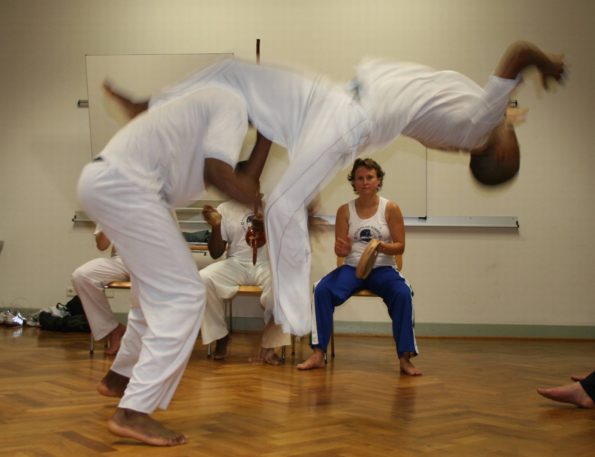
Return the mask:
<svg viewBox="0 0 595 457">
<path fill-rule="evenodd" d="M 133 438 L 152 446 L 185 445 L 188 437 L 159 424 L 146 412 L 118 408 L 108 420 L 108 430 L 114 435 Z"/>
</svg>

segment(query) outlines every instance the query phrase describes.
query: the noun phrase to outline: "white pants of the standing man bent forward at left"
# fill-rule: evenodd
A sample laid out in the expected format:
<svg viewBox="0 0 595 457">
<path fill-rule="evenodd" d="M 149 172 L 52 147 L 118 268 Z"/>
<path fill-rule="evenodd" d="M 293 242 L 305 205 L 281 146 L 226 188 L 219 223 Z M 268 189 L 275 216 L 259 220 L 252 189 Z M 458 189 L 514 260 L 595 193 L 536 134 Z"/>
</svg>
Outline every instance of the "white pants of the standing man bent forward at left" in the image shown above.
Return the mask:
<svg viewBox="0 0 595 457">
<path fill-rule="evenodd" d="M 120 408 L 167 408 L 188 363 L 205 311 L 205 287 L 159 194 L 108 163 L 81 174 L 79 200 L 130 269 L 132 309 L 111 369 L 130 382 Z"/>
</svg>

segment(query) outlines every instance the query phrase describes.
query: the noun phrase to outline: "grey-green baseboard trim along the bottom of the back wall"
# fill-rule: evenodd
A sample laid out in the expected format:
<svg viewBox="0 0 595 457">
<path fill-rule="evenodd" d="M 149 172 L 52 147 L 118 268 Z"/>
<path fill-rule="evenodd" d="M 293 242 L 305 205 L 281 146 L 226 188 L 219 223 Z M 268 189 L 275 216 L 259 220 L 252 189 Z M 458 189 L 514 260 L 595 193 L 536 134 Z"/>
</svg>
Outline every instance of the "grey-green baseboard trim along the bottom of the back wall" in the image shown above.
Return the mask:
<svg viewBox="0 0 595 457">
<path fill-rule="evenodd" d="M 126 324 L 127 313 L 115 313 Z M 264 323 L 259 317 L 234 317 L 234 330 L 262 330 Z M 391 322 L 361 322 L 336 320 L 335 333 L 353 335 L 392 335 Z M 595 326 L 548 325 L 548 324 L 461 324 L 443 322 L 416 322 L 417 336 L 484 336 L 486 338 L 576 338 L 595 339 Z"/>
</svg>

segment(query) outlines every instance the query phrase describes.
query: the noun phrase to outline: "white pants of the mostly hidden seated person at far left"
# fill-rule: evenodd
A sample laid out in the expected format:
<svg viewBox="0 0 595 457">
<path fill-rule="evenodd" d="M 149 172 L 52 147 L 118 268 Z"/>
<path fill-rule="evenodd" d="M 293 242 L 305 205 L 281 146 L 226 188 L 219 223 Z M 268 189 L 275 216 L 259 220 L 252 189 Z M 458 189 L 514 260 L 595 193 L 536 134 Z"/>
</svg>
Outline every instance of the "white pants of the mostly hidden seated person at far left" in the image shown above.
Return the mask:
<svg viewBox="0 0 595 457">
<path fill-rule="evenodd" d="M 130 272 L 119 255 L 93 259 L 74 270 L 74 290 L 83 303 L 93 338 L 105 338 L 118 326 L 111 310 L 104 286 L 112 281 L 130 280 Z"/>
</svg>

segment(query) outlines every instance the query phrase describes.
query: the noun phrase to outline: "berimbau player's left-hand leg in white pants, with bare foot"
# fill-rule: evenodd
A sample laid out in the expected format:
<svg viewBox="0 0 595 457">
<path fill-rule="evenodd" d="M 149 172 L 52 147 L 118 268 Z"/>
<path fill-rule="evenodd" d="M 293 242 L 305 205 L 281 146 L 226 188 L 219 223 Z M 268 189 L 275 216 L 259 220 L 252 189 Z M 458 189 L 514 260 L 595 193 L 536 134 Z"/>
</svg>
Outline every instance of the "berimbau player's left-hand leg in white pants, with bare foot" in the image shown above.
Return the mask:
<svg viewBox="0 0 595 457">
<path fill-rule="evenodd" d="M 241 264 L 234 259 L 221 260 L 200 272 L 206 288 L 205 317 L 202 320 L 202 343 L 217 341 L 213 358 L 221 360 L 227 355 L 231 335 L 227 331 L 223 300 L 237 294 L 239 284 L 245 281 Z"/>
</svg>

